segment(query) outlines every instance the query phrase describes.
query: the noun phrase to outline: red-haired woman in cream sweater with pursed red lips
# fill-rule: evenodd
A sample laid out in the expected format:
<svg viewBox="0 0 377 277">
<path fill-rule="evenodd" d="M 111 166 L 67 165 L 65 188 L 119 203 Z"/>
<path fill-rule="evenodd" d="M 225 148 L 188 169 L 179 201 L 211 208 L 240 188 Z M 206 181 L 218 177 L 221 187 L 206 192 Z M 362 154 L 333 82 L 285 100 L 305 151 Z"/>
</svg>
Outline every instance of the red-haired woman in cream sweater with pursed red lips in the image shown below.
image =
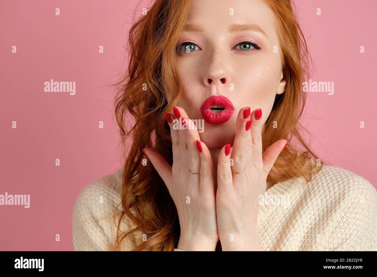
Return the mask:
<svg viewBox="0 0 377 277">
<path fill-rule="evenodd" d="M 156 0 L 129 45 L 115 114 L 132 145 L 77 198 L 75 250 L 377 250 L 374 187 L 300 136 L 289 0 Z"/>
</svg>

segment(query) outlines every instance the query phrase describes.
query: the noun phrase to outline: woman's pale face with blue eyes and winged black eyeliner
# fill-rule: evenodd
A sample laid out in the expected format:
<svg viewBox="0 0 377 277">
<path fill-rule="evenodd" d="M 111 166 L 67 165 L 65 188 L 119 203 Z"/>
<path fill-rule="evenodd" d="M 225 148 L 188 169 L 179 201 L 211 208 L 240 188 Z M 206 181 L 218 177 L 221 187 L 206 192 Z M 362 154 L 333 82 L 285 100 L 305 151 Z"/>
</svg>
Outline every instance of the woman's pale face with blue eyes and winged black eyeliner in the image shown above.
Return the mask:
<svg viewBox="0 0 377 277">
<path fill-rule="evenodd" d="M 190 119 L 206 119 L 201 106 L 210 96 L 225 96 L 234 106 L 227 121 L 204 121 L 199 136 L 209 149 L 233 145 L 242 107 L 261 108 L 264 125 L 285 81 L 274 15 L 263 1 L 193 0 L 181 43 L 176 61 L 182 96 L 176 106 Z"/>
</svg>

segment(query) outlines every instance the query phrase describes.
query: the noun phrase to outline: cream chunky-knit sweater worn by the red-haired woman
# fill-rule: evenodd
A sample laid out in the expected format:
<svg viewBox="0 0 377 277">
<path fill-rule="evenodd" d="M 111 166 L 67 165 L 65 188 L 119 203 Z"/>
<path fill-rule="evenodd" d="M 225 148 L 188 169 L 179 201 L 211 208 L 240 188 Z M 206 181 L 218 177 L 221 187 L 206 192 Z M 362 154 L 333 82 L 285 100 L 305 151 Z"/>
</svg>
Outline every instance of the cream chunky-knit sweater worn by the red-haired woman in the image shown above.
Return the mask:
<svg viewBox="0 0 377 277">
<path fill-rule="evenodd" d="M 123 168 L 98 179 L 77 197 L 72 220 L 75 251 L 112 250 L 112 214 L 120 203 L 122 173 Z M 308 183 L 290 179 L 266 193 L 257 219 L 263 251 L 377 251 L 377 193 L 365 178 L 324 165 Z M 123 231 L 133 227 L 129 220 L 121 222 Z M 122 249 L 132 251 L 143 234 L 127 238 Z"/>
</svg>

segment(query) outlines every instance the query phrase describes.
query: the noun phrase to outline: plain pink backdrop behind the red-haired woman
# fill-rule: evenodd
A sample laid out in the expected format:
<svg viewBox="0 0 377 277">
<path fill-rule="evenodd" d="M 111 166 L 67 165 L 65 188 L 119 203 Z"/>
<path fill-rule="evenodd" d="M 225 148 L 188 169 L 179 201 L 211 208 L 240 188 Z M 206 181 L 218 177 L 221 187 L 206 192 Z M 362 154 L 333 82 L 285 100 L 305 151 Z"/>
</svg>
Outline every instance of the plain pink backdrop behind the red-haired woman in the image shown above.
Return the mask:
<svg viewBox="0 0 377 277">
<path fill-rule="evenodd" d="M 376 187 L 377 2 L 297 2 L 316 62 L 312 80 L 334 81 L 334 95 L 308 96 L 302 123 L 313 134 L 311 147 L 324 161 Z M 31 207 L 0 206 L 0 250 L 73 250 L 77 195 L 122 166 L 114 92 L 107 85 L 124 69 L 123 45 L 135 4 L 2 1 L 0 194 L 30 194 Z M 322 15 L 316 15 L 316 8 Z M 44 92 L 50 79 L 75 81 L 76 95 Z M 17 129 L 11 128 L 12 121 Z M 104 129 L 98 128 L 99 121 Z"/>
</svg>

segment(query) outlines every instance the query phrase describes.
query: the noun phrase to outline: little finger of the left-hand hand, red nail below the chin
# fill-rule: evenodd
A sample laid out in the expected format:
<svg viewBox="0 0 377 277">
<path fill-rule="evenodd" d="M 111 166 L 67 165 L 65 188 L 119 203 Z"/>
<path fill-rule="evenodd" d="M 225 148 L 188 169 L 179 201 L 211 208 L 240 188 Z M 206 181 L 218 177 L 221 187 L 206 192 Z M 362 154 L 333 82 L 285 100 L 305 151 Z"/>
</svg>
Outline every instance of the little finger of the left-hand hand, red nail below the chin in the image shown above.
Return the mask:
<svg viewBox="0 0 377 277">
<path fill-rule="evenodd" d="M 197 144 L 201 159 L 199 194 L 211 196 L 215 192 L 211 153 L 204 142 L 198 140 Z"/>
</svg>

